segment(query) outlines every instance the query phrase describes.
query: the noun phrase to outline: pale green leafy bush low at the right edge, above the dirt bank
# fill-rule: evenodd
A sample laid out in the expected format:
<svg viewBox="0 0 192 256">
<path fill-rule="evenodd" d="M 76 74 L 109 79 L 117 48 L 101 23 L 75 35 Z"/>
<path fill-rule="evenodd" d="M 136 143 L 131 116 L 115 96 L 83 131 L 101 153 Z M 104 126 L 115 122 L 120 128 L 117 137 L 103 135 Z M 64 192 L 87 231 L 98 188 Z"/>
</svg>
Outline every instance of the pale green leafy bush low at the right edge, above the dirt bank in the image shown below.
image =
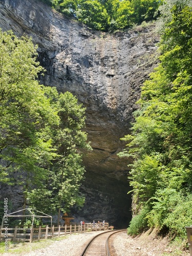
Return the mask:
<svg viewBox="0 0 192 256">
<path fill-rule="evenodd" d="M 176 189 L 158 190 L 154 198 L 153 209 L 147 215 L 148 225 L 162 230 L 166 227 L 169 236 L 186 239 L 186 226 L 191 225 L 192 197 L 184 196 Z"/>
</svg>

